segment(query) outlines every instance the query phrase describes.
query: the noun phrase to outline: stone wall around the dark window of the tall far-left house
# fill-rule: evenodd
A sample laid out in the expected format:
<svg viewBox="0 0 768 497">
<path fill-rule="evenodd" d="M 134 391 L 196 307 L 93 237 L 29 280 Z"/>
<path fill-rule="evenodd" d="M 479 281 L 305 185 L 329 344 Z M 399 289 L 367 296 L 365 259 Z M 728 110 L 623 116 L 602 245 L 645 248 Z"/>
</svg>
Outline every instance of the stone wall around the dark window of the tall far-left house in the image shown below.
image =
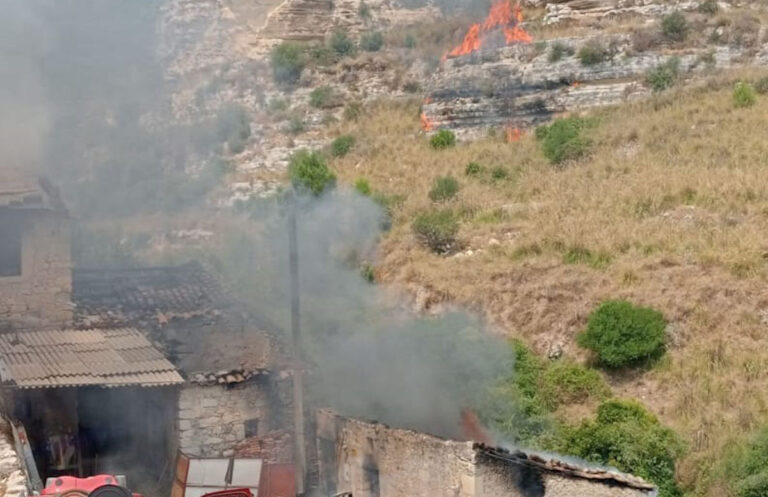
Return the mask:
<svg viewBox="0 0 768 497">
<path fill-rule="evenodd" d="M 0 322 L 72 320 L 69 220 L 59 212 L 11 212 L 23 226 L 21 276 L 0 277 Z M 2 234 L 0 234 L 2 236 Z"/>
</svg>

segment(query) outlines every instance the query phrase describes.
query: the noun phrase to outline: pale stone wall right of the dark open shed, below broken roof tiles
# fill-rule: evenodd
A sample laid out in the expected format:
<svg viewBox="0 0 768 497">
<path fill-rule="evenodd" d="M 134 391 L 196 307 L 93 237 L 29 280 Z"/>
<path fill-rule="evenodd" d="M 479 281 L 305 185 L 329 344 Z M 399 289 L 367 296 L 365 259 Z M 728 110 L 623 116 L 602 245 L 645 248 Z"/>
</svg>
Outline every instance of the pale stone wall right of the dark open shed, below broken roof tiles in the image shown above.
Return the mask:
<svg viewBox="0 0 768 497">
<path fill-rule="evenodd" d="M 200 457 L 231 456 L 246 438 L 247 420 L 258 420 L 258 435 L 271 429 L 269 402 L 267 382 L 185 385 L 179 395 L 179 448 Z"/>
</svg>

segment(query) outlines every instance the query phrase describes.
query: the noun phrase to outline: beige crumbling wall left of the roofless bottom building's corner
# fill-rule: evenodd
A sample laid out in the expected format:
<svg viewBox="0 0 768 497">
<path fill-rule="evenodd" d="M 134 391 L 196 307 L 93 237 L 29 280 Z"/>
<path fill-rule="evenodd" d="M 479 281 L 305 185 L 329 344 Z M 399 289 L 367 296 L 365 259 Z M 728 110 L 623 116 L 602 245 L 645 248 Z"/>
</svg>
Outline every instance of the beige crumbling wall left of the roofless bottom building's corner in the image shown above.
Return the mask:
<svg viewBox="0 0 768 497">
<path fill-rule="evenodd" d="M 319 411 L 321 490 L 355 497 L 475 495 L 469 442 L 443 440 Z"/>
</svg>

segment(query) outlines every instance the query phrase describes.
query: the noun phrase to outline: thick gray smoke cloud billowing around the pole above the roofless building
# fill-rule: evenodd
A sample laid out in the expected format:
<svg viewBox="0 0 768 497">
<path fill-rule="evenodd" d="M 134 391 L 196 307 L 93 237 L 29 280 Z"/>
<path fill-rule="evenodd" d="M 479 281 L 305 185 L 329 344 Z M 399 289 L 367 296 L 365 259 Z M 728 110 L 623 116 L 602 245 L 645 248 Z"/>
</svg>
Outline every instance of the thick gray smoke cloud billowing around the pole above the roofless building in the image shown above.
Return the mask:
<svg viewBox="0 0 768 497">
<path fill-rule="evenodd" d="M 301 201 L 298 214 L 303 349 L 315 366 L 310 392 L 343 414 L 442 436 L 460 436 L 463 408 L 476 408 L 511 366 L 510 349 L 475 316 L 453 310 L 419 316 L 368 283 L 382 209 L 353 192 Z M 225 273 L 253 308 L 288 329 L 285 206 L 261 205 L 251 238 L 229 245 Z"/>
</svg>

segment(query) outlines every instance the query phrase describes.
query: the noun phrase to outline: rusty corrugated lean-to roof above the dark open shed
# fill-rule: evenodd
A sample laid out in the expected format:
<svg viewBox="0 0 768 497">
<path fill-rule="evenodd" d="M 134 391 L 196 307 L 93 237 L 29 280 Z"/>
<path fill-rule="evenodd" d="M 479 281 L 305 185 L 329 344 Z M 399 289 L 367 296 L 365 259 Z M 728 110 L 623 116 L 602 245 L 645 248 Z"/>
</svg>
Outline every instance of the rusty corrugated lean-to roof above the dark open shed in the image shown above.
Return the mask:
<svg viewBox="0 0 768 497">
<path fill-rule="evenodd" d="M 133 328 L 0 334 L 0 381 L 17 388 L 184 382 L 173 364 Z"/>
</svg>

